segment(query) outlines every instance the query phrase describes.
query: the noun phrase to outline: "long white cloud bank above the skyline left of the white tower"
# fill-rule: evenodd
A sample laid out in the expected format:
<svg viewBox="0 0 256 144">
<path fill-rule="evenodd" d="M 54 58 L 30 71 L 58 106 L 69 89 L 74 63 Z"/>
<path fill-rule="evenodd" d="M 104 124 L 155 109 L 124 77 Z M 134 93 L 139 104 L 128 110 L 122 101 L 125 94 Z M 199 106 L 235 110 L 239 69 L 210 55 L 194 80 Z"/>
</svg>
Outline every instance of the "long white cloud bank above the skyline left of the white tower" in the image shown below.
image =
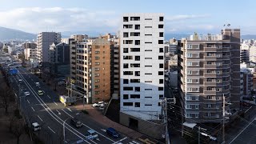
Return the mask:
<svg viewBox="0 0 256 144">
<path fill-rule="evenodd" d="M 0 26 L 38 33 L 40 31 L 117 31 L 114 11 L 91 11 L 82 8 L 28 7 L 0 11 Z"/>
</svg>

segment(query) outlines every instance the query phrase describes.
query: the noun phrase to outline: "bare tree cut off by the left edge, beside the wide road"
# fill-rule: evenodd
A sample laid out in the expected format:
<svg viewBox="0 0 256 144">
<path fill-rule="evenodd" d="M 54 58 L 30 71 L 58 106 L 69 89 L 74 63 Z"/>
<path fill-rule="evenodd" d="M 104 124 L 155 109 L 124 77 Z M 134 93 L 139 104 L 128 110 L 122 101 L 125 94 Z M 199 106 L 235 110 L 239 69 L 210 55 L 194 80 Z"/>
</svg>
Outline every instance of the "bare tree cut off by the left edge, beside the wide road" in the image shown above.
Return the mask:
<svg viewBox="0 0 256 144">
<path fill-rule="evenodd" d="M 0 86 L 0 106 L 5 109 L 6 115 L 8 115 L 8 108 L 10 106 L 12 97 L 12 90 L 8 86 Z"/>
</svg>

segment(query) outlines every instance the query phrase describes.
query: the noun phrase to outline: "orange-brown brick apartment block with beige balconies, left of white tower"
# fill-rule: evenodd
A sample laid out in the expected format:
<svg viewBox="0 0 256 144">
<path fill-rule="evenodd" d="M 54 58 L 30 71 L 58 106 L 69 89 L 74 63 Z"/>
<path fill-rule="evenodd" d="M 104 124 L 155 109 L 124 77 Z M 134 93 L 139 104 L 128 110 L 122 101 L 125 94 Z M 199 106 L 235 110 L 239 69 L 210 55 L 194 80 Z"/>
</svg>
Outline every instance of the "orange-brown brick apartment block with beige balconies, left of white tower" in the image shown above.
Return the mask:
<svg viewBox="0 0 256 144">
<path fill-rule="evenodd" d="M 70 40 L 70 78 L 85 90 L 87 103 L 108 101 L 110 41 L 105 37 L 79 41 Z"/>
</svg>

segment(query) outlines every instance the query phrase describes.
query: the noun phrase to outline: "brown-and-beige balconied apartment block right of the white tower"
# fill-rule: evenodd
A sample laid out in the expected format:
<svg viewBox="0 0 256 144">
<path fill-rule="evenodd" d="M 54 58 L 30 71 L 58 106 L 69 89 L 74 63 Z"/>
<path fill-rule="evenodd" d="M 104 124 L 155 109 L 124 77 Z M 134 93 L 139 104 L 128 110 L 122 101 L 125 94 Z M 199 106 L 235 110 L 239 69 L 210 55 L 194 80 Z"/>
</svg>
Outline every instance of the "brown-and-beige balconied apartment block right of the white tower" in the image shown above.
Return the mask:
<svg viewBox="0 0 256 144">
<path fill-rule="evenodd" d="M 240 30 L 191 35 L 178 48 L 178 86 L 186 122 L 222 122 L 238 113 Z M 225 102 L 225 107 L 223 107 Z"/>
</svg>

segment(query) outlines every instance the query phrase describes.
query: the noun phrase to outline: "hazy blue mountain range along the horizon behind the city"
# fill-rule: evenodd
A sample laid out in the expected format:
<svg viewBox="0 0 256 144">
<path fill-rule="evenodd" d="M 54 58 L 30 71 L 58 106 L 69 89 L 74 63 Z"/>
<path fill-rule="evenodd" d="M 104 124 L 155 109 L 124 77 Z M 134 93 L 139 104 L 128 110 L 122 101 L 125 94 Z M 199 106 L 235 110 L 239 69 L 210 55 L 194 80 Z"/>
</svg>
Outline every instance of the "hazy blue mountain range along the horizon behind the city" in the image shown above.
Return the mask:
<svg viewBox="0 0 256 144">
<path fill-rule="evenodd" d="M 62 32 L 62 38 L 70 38 L 71 34 L 88 34 L 90 36 L 98 36 L 102 33 L 97 33 L 94 31 L 64 31 Z M 111 33 L 115 34 L 115 33 Z M 188 38 L 190 34 L 165 34 L 165 40 L 169 40 L 170 38 L 176 38 L 176 39 L 181 39 L 181 38 Z M 36 40 L 37 34 L 30 34 L 26 33 L 21 30 L 14 30 L 14 29 L 9 29 L 6 27 L 1 27 L 0 26 L 0 41 L 10 41 L 10 40 Z M 241 35 L 242 39 L 256 39 L 256 34 L 246 34 L 246 35 Z"/>
</svg>

